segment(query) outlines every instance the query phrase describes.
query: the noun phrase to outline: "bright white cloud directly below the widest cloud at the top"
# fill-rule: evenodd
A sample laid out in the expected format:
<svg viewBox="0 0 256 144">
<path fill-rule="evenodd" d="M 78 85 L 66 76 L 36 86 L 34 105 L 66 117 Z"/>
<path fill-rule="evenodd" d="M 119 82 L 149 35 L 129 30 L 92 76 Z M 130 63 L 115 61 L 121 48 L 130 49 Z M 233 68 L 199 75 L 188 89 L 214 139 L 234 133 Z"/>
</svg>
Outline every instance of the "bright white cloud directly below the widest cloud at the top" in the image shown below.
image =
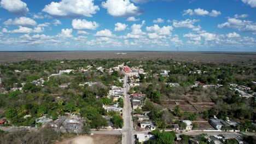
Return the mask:
<svg viewBox="0 0 256 144">
<path fill-rule="evenodd" d="M 82 29 L 95 30 L 99 25 L 95 21 L 92 22 L 92 21 L 74 19 L 72 20 L 72 26 L 74 29 L 78 29 L 78 30 L 82 30 Z"/>
</svg>

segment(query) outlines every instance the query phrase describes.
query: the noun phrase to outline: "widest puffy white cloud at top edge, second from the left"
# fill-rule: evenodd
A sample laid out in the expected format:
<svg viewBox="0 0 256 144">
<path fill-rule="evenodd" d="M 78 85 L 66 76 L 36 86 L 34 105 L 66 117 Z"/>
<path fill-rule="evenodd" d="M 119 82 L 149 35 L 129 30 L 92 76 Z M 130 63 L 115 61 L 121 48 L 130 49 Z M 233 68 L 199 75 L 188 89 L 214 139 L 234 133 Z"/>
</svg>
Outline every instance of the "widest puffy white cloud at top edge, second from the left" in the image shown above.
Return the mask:
<svg viewBox="0 0 256 144">
<path fill-rule="evenodd" d="M 61 0 L 45 5 L 42 11 L 54 17 L 91 17 L 97 10 L 94 0 Z"/>
</svg>

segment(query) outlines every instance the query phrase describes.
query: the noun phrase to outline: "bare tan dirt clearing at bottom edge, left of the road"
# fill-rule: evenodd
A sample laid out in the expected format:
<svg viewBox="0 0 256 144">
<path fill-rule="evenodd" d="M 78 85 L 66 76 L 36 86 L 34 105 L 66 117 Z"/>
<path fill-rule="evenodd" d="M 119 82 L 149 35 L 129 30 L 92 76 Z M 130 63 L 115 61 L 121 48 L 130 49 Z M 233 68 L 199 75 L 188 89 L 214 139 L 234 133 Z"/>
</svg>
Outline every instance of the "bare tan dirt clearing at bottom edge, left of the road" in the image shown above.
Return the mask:
<svg viewBox="0 0 256 144">
<path fill-rule="evenodd" d="M 65 139 L 56 144 L 120 144 L 121 139 L 117 135 L 91 135 L 77 136 L 70 139 Z"/>
</svg>

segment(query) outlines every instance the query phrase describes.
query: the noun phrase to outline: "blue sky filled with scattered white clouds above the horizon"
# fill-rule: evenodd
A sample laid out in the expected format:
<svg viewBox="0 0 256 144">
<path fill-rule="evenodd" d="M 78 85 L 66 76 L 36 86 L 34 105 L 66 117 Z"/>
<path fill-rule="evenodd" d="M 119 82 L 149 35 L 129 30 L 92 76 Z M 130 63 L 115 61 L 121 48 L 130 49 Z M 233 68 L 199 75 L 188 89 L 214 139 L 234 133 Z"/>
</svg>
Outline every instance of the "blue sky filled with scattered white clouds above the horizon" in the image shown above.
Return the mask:
<svg viewBox="0 0 256 144">
<path fill-rule="evenodd" d="M 256 51 L 256 0 L 0 0 L 0 51 Z"/>
</svg>

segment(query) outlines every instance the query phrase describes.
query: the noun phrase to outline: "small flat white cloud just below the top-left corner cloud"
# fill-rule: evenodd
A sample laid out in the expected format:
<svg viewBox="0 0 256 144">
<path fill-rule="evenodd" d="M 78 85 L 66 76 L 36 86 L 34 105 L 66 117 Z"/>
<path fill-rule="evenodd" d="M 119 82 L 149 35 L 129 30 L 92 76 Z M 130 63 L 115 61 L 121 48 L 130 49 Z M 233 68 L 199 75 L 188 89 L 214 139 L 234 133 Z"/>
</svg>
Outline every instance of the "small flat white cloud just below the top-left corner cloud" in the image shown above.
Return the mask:
<svg viewBox="0 0 256 144">
<path fill-rule="evenodd" d="M 34 27 L 37 25 L 37 22 L 28 18 L 28 17 L 19 17 L 14 20 L 9 19 L 4 22 L 4 25 L 18 25 L 23 27 Z"/>
</svg>

